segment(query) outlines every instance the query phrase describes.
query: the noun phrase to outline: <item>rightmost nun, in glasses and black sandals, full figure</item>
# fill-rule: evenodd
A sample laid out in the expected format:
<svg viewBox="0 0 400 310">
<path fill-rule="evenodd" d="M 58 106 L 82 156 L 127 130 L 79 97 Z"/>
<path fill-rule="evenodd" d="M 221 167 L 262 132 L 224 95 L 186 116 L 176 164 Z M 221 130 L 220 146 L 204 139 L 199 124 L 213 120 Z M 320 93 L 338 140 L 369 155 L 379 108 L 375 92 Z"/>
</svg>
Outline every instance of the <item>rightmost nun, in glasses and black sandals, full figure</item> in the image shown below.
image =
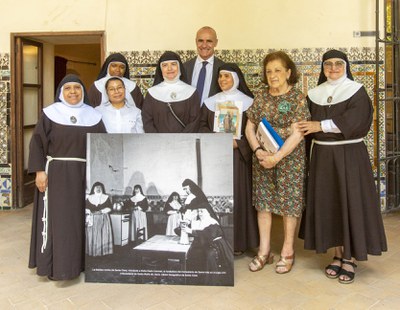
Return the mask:
<svg viewBox="0 0 400 310">
<path fill-rule="evenodd" d="M 318 86 L 308 92 L 311 121 L 299 128 L 312 140 L 306 210 L 300 238 L 317 253 L 334 248 L 325 275 L 354 281 L 355 260 L 387 250 L 371 161 L 363 138 L 373 107 L 364 86 L 353 81 L 345 53 L 322 57 Z"/>
</svg>

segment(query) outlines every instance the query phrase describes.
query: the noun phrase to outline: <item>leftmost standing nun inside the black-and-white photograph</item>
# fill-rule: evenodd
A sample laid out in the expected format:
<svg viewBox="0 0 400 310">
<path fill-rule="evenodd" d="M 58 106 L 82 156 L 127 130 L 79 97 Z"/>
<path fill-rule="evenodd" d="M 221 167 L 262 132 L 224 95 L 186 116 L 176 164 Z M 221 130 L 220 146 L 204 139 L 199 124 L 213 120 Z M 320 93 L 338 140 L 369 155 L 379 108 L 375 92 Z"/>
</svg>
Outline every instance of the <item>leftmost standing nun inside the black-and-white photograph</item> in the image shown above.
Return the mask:
<svg viewBox="0 0 400 310">
<path fill-rule="evenodd" d="M 110 197 L 104 184 L 96 182 L 86 198 L 86 254 L 103 256 L 113 253 L 113 235 L 109 213 Z"/>
</svg>

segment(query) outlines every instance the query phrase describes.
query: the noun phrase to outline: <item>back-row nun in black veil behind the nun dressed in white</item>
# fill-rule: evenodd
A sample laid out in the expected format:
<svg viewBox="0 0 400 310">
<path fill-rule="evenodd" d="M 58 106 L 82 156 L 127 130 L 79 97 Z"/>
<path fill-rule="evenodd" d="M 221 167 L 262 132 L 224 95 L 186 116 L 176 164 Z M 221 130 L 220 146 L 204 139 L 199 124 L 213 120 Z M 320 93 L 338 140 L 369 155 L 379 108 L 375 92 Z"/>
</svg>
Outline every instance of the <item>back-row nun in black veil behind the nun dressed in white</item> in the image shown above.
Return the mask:
<svg viewBox="0 0 400 310">
<path fill-rule="evenodd" d="M 129 103 L 141 109 L 143 105 L 142 92 L 139 86 L 130 80 L 128 61 L 120 53 L 111 54 L 106 58 L 97 80 L 90 86 L 88 96 L 91 106 L 97 107 L 101 103 L 108 101 L 106 82 L 111 76 L 117 76 L 123 80 Z"/>
</svg>

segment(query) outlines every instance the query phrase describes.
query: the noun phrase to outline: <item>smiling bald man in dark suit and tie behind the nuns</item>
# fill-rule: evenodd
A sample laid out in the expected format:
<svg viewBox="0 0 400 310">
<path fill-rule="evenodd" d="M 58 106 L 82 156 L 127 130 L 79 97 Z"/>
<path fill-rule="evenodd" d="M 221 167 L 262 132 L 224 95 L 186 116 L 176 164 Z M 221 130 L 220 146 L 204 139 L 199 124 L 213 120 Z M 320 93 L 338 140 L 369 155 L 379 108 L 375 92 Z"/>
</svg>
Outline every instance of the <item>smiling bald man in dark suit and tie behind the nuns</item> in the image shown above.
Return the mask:
<svg viewBox="0 0 400 310">
<path fill-rule="evenodd" d="M 215 95 L 219 91 L 218 68 L 224 62 L 214 56 L 214 48 L 217 44 L 217 33 L 213 28 L 208 26 L 200 28 L 196 34 L 197 57 L 183 64 L 188 83 L 196 87 L 199 91 L 201 104 L 203 104 L 205 99 Z M 205 61 L 207 63 L 204 63 Z M 202 76 L 204 77 L 204 72 L 201 72 L 203 67 L 205 67 L 204 86 L 199 86 L 199 84 L 203 84 L 202 82 L 199 83 L 199 77 L 200 80 Z"/>
</svg>

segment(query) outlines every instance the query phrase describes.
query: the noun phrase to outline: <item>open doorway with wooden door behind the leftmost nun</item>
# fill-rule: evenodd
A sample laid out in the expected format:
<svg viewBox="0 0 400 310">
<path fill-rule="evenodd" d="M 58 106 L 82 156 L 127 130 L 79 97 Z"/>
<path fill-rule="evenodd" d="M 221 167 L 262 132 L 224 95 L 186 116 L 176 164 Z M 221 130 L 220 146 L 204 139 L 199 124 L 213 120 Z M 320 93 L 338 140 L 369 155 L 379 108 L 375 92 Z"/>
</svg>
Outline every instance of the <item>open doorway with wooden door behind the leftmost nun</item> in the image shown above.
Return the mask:
<svg viewBox="0 0 400 310">
<path fill-rule="evenodd" d="M 12 196 L 21 208 L 33 201 L 29 142 L 41 111 L 54 102 L 65 74 L 77 74 L 89 88 L 104 59 L 104 32 L 12 33 L 11 42 Z"/>
</svg>

